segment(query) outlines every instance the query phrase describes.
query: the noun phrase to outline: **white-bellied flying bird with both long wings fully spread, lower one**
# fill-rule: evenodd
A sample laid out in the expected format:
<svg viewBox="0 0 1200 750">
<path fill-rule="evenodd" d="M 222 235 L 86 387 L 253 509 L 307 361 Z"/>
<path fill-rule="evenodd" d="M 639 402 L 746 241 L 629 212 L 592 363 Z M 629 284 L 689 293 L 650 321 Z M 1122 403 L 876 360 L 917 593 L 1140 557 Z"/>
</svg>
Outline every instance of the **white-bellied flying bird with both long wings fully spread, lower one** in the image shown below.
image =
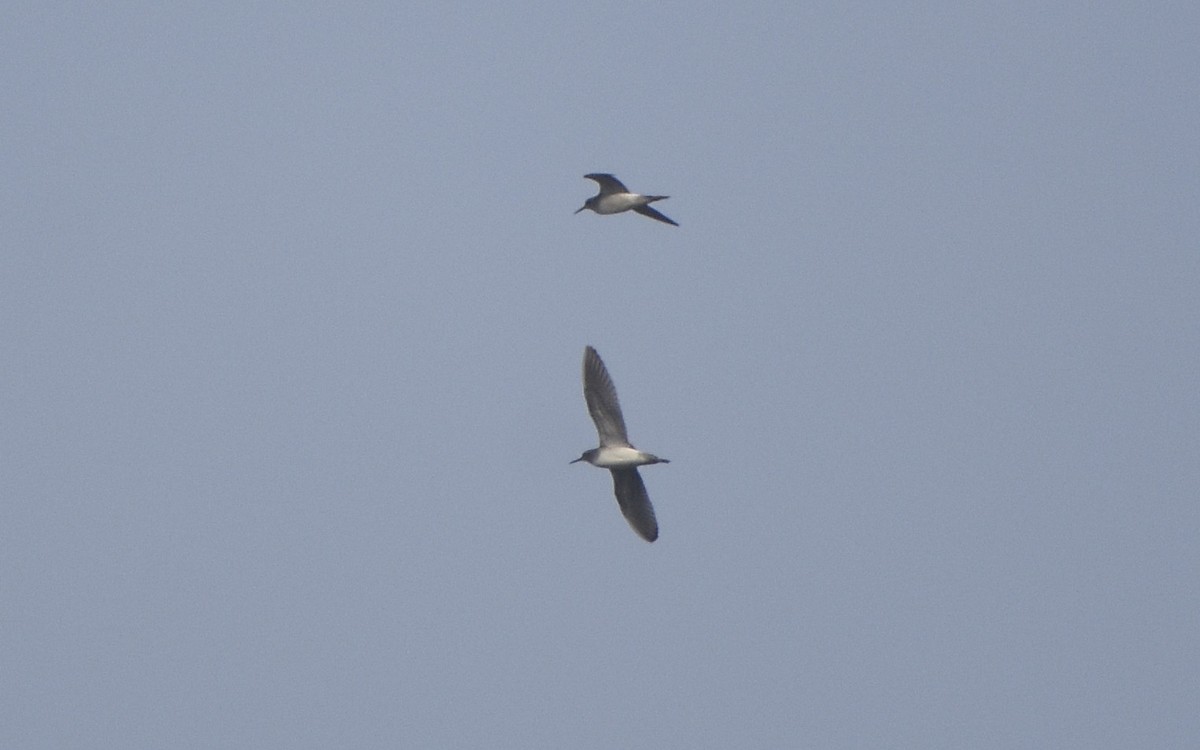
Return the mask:
<svg viewBox="0 0 1200 750">
<path fill-rule="evenodd" d="M 613 492 L 625 521 L 629 521 L 638 536 L 654 541 L 659 538 L 659 522 L 654 517 L 654 506 L 650 505 L 650 497 L 646 493 L 637 467 L 671 462 L 629 444 L 625 418 L 622 416 L 620 402 L 617 401 L 617 386 L 612 384 L 604 360 L 592 347 L 583 349 L 583 398 L 588 402 L 588 413 L 600 434 L 600 448 L 583 451 L 571 463 L 587 461 L 612 472 Z"/>
</svg>

